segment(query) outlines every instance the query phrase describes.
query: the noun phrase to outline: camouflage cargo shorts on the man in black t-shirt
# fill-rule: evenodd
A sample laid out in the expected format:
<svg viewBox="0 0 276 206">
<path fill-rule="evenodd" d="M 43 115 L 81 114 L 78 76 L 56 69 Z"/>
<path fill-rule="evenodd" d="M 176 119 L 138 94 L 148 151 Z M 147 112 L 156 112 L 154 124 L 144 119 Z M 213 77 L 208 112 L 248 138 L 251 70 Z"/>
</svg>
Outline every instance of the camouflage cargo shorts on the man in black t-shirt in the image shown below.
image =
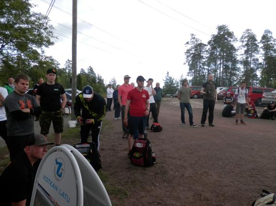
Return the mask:
<svg viewBox="0 0 276 206">
<path fill-rule="evenodd" d="M 40 125 L 40 133 L 42 135 L 47 135 L 49 133 L 49 129 L 51 126 L 51 122 L 53 121 L 54 131 L 55 133 L 63 132 L 63 116 L 62 111 L 55 112 L 45 112 L 39 116 L 39 125 Z"/>
</svg>

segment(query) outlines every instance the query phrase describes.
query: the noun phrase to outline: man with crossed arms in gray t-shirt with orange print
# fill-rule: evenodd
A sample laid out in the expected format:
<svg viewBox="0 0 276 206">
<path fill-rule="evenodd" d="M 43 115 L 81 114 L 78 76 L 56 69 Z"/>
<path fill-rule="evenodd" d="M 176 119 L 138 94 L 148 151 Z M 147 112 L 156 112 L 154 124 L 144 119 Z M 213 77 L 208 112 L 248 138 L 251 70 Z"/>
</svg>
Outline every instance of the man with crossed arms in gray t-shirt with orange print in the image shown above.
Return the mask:
<svg viewBox="0 0 276 206">
<path fill-rule="evenodd" d="M 41 113 L 35 97 L 25 94 L 29 88 L 29 78 L 25 74 L 19 74 L 15 78 L 15 86 L 15 91 L 9 94 L 4 101 L 7 116 L 7 146 L 11 161 L 23 151 L 29 141 L 33 140 L 33 115 Z"/>
</svg>

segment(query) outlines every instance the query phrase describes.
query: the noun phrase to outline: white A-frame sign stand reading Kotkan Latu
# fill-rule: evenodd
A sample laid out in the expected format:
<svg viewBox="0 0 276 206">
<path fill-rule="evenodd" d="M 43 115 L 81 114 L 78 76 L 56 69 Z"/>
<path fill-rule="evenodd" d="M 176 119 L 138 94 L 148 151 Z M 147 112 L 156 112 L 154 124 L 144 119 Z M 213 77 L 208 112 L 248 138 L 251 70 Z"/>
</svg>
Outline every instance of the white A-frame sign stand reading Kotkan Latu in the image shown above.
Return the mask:
<svg viewBox="0 0 276 206">
<path fill-rule="evenodd" d="M 30 206 L 111 206 L 85 157 L 70 145 L 51 148 L 37 170 Z"/>
</svg>

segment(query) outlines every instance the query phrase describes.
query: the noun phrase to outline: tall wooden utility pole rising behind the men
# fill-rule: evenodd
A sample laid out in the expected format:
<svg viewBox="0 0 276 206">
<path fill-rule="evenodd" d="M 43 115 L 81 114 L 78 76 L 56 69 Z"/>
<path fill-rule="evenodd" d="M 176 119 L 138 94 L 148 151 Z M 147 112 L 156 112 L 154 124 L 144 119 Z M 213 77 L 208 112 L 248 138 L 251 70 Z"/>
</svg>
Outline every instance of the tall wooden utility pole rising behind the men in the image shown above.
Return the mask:
<svg viewBox="0 0 276 206">
<path fill-rule="evenodd" d="M 72 105 L 71 105 L 71 120 L 75 120 L 74 102 L 76 98 L 76 55 L 77 55 L 77 0 L 73 0 L 72 9 Z"/>
</svg>

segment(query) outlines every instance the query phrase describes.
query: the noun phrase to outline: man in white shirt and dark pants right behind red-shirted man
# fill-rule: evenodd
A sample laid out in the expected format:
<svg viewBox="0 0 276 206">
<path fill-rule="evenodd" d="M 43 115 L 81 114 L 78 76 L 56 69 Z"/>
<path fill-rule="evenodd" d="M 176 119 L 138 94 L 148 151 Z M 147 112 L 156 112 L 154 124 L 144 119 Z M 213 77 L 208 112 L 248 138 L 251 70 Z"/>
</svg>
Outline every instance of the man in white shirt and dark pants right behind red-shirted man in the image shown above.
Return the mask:
<svg viewBox="0 0 276 206">
<path fill-rule="evenodd" d="M 149 102 L 149 114 L 150 114 L 150 112 L 152 112 L 153 122 L 158 122 L 155 101 L 154 101 L 154 98 L 153 98 L 153 95 L 156 94 L 156 91 L 152 87 L 152 83 L 153 83 L 153 79 L 149 78 L 147 80 L 147 86 L 145 86 L 144 89 L 147 90 L 148 95 L 149 95 L 149 100 L 148 100 L 148 102 Z M 149 114 L 147 116 L 147 124 L 146 124 L 147 129 L 149 129 L 149 124 L 148 124 Z"/>
</svg>

